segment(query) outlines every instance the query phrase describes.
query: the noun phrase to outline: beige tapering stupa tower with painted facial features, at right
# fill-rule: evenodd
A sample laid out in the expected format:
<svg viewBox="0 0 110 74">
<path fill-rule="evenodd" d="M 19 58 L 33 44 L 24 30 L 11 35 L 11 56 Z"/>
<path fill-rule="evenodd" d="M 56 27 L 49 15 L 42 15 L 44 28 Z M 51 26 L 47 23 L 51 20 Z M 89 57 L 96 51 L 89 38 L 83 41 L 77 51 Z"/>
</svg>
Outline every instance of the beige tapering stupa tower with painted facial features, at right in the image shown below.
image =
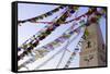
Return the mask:
<svg viewBox="0 0 110 74">
<path fill-rule="evenodd" d="M 86 30 L 89 33 L 81 44 L 80 67 L 106 66 L 106 44 L 102 38 L 100 25 L 91 23 Z"/>
</svg>

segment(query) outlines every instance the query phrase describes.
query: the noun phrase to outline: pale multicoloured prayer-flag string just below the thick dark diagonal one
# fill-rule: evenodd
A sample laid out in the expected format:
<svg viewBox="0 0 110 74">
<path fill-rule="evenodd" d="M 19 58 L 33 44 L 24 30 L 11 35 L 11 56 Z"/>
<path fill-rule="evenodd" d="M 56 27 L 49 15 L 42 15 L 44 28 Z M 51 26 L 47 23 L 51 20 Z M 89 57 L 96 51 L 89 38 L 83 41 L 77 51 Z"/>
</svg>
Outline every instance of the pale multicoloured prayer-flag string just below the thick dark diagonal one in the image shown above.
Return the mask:
<svg viewBox="0 0 110 74">
<path fill-rule="evenodd" d="M 66 33 L 64 33 L 61 37 L 58 37 L 57 39 L 55 39 L 53 42 L 50 42 L 50 44 L 47 44 L 47 45 L 45 45 L 45 46 L 43 46 L 42 48 L 38 48 L 40 50 L 41 49 L 43 49 L 44 51 L 46 51 L 46 54 L 50 52 L 48 50 L 54 50 L 54 49 L 56 49 L 57 47 L 59 47 L 61 45 L 59 44 L 63 44 L 63 42 L 65 42 L 65 40 L 67 40 L 67 39 L 69 39 L 69 37 L 74 34 L 74 33 L 76 33 L 76 32 L 78 32 L 78 29 L 84 25 L 84 23 L 80 23 L 81 25 L 79 26 L 79 27 L 77 27 L 77 28 L 74 28 L 74 26 L 75 25 L 73 25 L 70 28 L 68 28 L 67 29 L 67 32 Z M 24 62 L 23 64 L 21 64 L 20 66 L 23 66 L 24 64 L 28 64 L 28 63 L 32 63 L 32 60 L 33 61 L 35 61 L 36 60 L 36 57 L 37 57 L 37 59 L 38 58 L 43 58 L 44 55 L 37 55 L 36 54 L 36 51 L 40 51 L 38 49 L 36 49 L 36 50 L 34 50 L 35 51 L 35 59 L 30 59 L 29 61 L 26 61 L 26 62 Z M 46 49 L 46 50 L 45 50 Z M 45 54 L 45 52 L 44 53 L 41 53 L 41 54 Z"/>
</svg>

